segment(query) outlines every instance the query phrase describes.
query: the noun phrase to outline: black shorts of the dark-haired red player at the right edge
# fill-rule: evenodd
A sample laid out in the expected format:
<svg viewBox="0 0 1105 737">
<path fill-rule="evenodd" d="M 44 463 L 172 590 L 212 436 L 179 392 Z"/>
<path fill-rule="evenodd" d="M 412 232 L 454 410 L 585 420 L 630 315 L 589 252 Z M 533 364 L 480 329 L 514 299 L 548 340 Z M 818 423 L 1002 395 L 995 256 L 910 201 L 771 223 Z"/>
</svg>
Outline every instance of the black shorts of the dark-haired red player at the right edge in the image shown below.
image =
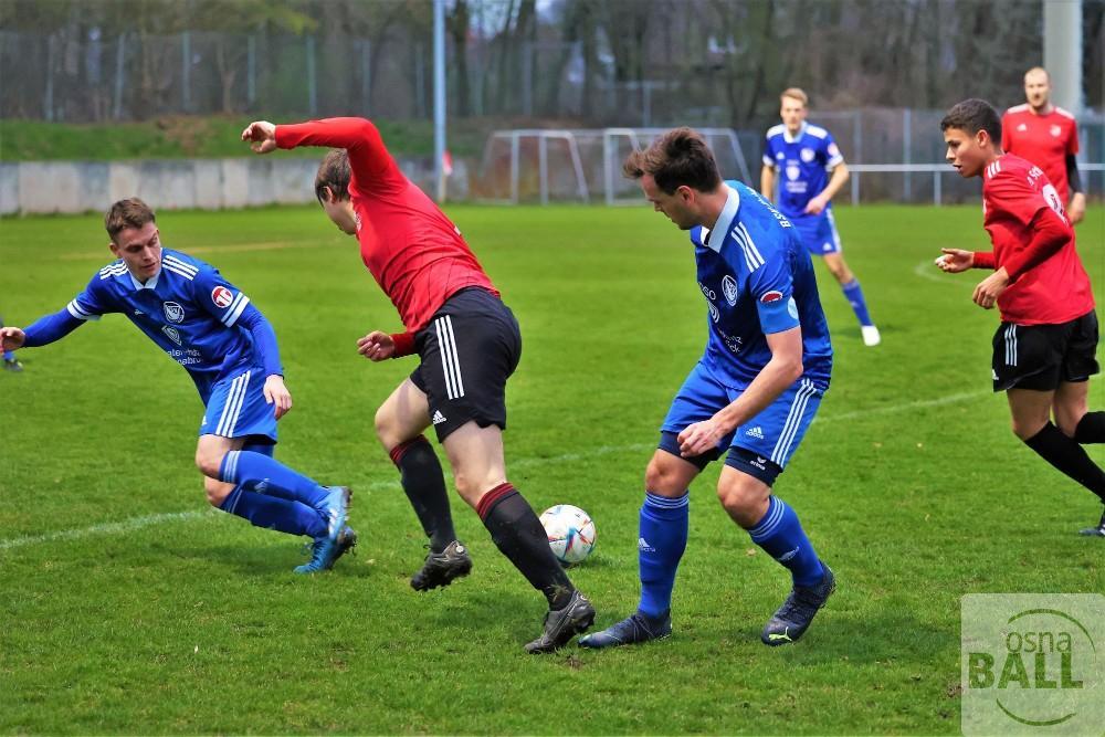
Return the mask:
<svg viewBox="0 0 1105 737">
<path fill-rule="evenodd" d="M 993 334 L 993 390 L 1054 391 L 1061 382 L 1086 381 L 1099 367 L 1097 314 L 1059 325 L 1002 323 Z"/>
</svg>

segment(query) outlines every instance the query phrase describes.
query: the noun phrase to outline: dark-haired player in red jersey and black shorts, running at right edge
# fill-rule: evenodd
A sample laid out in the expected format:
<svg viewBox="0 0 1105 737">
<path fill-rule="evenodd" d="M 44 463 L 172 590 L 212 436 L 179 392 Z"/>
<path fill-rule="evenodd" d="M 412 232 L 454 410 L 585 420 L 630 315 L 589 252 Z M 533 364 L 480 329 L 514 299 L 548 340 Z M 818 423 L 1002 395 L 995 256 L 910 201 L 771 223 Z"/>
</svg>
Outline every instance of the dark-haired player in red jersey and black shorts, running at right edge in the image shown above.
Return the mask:
<svg viewBox="0 0 1105 737">
<path fill-rule="evenodd" d="M 1001 313 L 993 390 L 1006 392 L 1013 433 L 1105 503 L 1105 471 L 1082 448 L 1105 442 L 1105 412 L 1087 402 L 1098 371 L 1097 314 L 1063 202 L 1040 167 L 1001 150 L 1001 120 L 985 101 L 959 103 L 940 128 L 948 161 L 965 178 L 982 177 L 993 250 L 943 249 L 936 264 L 949 273 L 993 270 L 974 301 Z M 1105 515 L 1082 534 L 1105 537 Z"/>
</svg>

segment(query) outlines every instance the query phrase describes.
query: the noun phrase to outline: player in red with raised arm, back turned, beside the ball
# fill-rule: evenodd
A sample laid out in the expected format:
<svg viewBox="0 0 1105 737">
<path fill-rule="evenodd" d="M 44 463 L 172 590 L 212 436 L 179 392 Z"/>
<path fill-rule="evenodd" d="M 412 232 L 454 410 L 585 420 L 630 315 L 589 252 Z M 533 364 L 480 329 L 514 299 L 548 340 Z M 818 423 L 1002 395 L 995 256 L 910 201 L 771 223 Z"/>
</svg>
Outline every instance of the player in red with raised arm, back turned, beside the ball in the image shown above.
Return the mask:
<svg viewBox="0 0 1105 737">
<path fill-rule="evenodd" d="M 453 529 L 441 464 L 422 434 L 432 424 L 456 491 L 498 549 L 548 599 L 545 631 L 526 650 L 564 645 L 590 627 L 594 609 L 554 557 L 533 507 L 506 480 L 506 380 L 522 356 L 514 314 L 460 230 L 403 176 L 369 120 L 256 122 L 242 139 L 257 154 L 297 146 L 335 149 L 318 168 L 315 194 L 334 224 L 357 236 L 365 265 L 406 326 L 396 335 L 369 333 L 357 341 L 358 352 L 373 361 L 421 357 L 376 413 L 376 434 L 430 538 L 430 554 L 411 586 L 419 591 L 448 586 L 472 569 Z"/>
</svg>

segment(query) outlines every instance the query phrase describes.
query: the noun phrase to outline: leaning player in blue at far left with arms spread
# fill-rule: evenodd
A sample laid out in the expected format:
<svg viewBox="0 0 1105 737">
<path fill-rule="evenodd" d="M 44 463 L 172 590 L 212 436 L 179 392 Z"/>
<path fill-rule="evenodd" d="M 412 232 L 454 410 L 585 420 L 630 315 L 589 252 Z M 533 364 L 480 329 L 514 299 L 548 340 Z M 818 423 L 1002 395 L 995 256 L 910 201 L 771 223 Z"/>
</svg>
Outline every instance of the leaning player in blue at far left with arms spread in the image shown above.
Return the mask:
<svg viewBox="0 0 1105 737">
<path fill-rule="evenodd" d="M 296 572 L 330 568 L 356 545 L 345 524 L 349 489 L 320 486 L 272 457 L 276 420 L 292 409 L 292 396 L 269 320 L 218 270 L 162 249 L 141 200 L 116 202 L 104 224 L 117 260 L 61 312 L 25 330 L 0 328 L 3 349 L 44 346 L 102 315 L 126 315 L 196 382 L 206 408 L 196 465 L 211 505 L 314 538 L 312 560 Z"/>
</svg>

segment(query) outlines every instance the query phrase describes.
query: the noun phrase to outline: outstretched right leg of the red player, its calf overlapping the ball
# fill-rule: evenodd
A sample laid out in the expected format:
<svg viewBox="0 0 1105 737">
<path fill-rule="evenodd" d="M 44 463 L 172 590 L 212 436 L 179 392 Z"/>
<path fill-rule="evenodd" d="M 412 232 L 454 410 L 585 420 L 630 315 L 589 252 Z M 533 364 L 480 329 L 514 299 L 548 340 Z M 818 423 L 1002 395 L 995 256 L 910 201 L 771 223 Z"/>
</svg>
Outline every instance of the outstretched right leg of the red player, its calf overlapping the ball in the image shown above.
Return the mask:
<svg viewBox="0 0 1105 737">
<path fill-rule="evenodd" d="M 537 513 L 507 481 L 502 430 L 470 421 L 450 432 L 442 444 L 457 493 L 480 515 L 495 547 L 548 601 L 545 632 L 526 650 L 543 653 L 566 644 L 591 625 L 594 609 L 552 555 Z"/>
</svg>

